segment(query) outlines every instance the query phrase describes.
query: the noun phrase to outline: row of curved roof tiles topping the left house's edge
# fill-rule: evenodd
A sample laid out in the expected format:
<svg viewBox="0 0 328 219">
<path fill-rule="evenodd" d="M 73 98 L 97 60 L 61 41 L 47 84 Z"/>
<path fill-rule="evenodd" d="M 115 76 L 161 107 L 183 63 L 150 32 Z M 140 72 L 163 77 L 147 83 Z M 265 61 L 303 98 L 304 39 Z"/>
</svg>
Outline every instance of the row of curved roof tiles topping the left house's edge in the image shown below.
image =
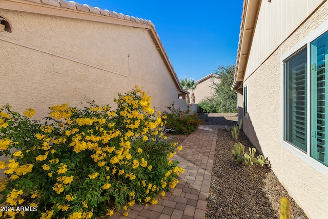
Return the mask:
<svg viewBox="0 0 328 219">
<path fill-rule="evenodd" d="M 45 5 L 51 5 L 55 7 L 60 7 L 60 8 L 67 8 L 71 10 L 77 10 L 77 11 L 83 11 L 87 13 L 93 13 L 93 14 L 99 14 L 99 15 L 104 15 L 108 17 L 114 17 L 118 19 L 124 19 L 127 21 L 135 22 L 135 23 L 141 23 L 141 24 L 148 24 L 151 25 L 153 28 L 155 28 L 155 25 L 152 23 L 150 20 L 142 19 L 139 17 L 134 17 L 130 15 L 125 15 L 122 13 L 117 13 L 115 11 L 109 11 L 107 9 L 101 9 L 98 7 L 92 7 L 87 4 L 79 4 L 74 1 L 66 1 L 66 0 L 26 0 L 28 2 L 34 2 L 34 3 L 39 3 L 39 4 L 45 4 Z"/>
</svg>

